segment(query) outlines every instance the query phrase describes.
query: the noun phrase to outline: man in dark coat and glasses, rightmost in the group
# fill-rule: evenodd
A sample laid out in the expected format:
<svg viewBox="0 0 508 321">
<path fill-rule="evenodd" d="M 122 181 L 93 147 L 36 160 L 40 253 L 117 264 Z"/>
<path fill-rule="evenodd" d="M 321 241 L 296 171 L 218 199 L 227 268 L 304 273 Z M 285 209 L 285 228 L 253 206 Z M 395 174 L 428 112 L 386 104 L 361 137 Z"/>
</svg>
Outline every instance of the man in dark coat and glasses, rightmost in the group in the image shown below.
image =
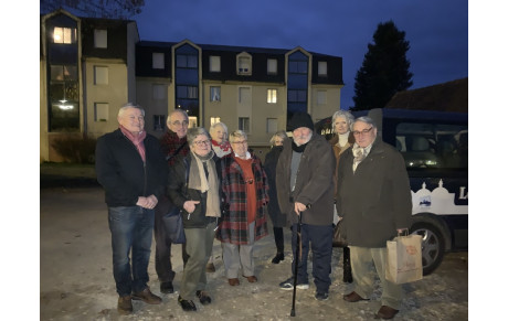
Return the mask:
<svg viewBox="0 0 508 321">
<path fill-rule="evenodd" d="M 402 154 L 377 137 L 369 117 L 352 124 L 354 145 L 340 158 L 337 213 L 351 248 L 353 291 L 348 302 L 366 300 L 373 291 L 372 261 L 383 292 L 377 317 L 392 319 L 402 301 L 402 287 L 387 281 L 387 240 L 406 228 L 411 218 L 411 189 Z"/>
</svg>

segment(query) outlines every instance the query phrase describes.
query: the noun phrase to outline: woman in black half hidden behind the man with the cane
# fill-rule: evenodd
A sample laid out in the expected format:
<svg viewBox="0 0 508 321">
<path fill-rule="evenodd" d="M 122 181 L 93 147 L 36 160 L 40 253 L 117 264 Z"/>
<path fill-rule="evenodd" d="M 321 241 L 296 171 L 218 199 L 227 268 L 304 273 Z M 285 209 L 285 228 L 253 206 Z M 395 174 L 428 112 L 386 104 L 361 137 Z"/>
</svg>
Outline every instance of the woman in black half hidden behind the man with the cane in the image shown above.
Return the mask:
<svg viewBox="0 0 508 321">
<path fill-rule="evenodd" d="M 283 151 L 283 141 L 287 139 L 287 135 L 284 130 L 277 131 L 269 139 L 271 150 L 265 157 L 264 170 L 268 178 L 268 196 L 271 202 L 268 203 L 268 214 L 274 226 L 274 238 L 277 254 L 272 259 L 273 264 L 279 264 L 284 260 L 284 231 L 286 226 L 286 214 L 281 213 L 281 207 L 277 201 L 277 188 L 275 183 L 275 173 L 277 170 L 278 156 Z"/>
</svg>

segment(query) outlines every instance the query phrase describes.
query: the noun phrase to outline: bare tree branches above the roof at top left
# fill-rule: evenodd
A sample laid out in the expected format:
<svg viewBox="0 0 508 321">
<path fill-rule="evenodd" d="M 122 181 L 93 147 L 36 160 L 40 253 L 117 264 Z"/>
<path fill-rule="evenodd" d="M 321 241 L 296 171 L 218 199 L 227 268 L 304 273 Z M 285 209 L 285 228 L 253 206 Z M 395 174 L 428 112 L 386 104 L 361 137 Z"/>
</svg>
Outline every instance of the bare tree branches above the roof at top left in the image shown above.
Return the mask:
<svg viewBox="0 0 508 321">
<path fill-rule="evenodd" d="M 41 12 L 60 8 L 88 18 L 130 19 L 141 12 L 145 0 L 41 0 Z"/>
</svg>

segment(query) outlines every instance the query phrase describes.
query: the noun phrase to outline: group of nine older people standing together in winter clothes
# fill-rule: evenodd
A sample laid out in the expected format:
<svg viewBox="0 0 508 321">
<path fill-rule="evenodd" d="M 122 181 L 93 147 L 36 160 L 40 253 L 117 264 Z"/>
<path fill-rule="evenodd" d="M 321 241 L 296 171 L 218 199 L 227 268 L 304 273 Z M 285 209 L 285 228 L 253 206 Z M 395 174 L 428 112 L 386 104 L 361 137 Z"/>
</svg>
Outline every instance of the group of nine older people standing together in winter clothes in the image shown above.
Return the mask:
<svg viewBox="0 0 508 321">
<path fill-rule="evenodd" d="M 377 317 L 391 319 L 399 312 L 402 288 L 384 279 L 385 242 L 409 226 L 411 194 L 402 156 L 378 138 L 372 119 L 354 119 L 339 110 L 332 116 L 336 136 L 327 141 L 314 132 L 309 114 L 295 113 L 288 122 L 292 138 L 276 132 L 262 164 L 242 130 L 227 135 L 222 122 L 210 131 L 189 128 L 187 113 L 174 109 L 167 132 L 157 140 L 146 132 L 144 116 L 140 106 L 123 106 L 119 128 L 100 137 L 96 146 L 119 313 L 133 312 L 131 300 L 161 302 L 147 285 L 152 231 L 160 292 L 174 291 L 171 242 L 162 224 L 172 206 L 181 210 L 186 233 L 178 297 L 184 311 L 197 310 L 194 298 L 203 306 L 212 302 L 207 272 L 215 270 L 214 239 L 221 242 L 230 286 L 240 285 L 241 277 L 257 281 L 253 249 L 268 235 L 268 215 L 276 246 L 273 264 L 284 260 L 284 228 L 292 231 L 292 276 L 279 288 L 309 288 L 311 252 L 315 298 L 327 300 L 337 213 L 348 237 L 353 277 L 352 291 L 343 299 L 369 298 L 373 291 L 369 276 L 375 266 L 383 288 Z"/>
</svg>

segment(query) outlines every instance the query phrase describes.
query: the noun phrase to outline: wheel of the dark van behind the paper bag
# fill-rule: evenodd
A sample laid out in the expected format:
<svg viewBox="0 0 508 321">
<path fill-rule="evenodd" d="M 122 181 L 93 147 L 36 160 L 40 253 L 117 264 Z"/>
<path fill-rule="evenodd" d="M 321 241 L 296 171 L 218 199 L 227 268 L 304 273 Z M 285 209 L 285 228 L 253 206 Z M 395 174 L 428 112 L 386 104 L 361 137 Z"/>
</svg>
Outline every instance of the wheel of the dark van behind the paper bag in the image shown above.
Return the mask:
<svg viewBox="0 0 508 321">
<path fill-rule="evenodd" d="M 422 236 L 422 266 L 423 275 L 430 275 L 443 260 L 445 240 L 441 231 L 431 223 L 415 223 L 411 226 L 411 234 Z"/>
</svg>

